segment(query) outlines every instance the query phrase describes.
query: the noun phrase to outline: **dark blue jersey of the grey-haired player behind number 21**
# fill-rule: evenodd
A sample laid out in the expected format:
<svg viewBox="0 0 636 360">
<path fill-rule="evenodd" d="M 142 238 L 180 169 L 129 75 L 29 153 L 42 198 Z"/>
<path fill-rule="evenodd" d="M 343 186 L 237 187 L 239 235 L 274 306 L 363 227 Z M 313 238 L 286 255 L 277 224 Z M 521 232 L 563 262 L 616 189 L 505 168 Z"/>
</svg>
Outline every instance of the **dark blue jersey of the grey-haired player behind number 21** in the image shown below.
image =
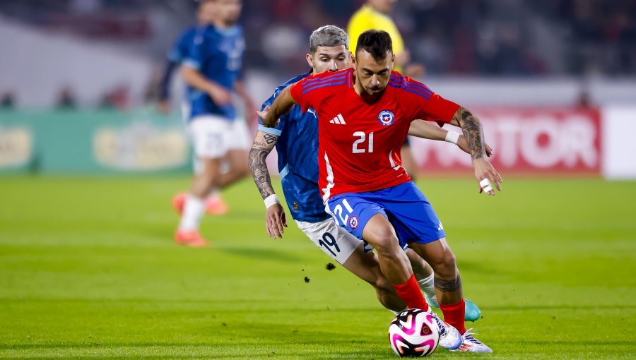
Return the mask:
<svg viewBox="0 0 636 360">
<path fill-rule="evenodd" d="M 276 100 L 278 94 L 288 85 L 302 80 L 311 73 L 305 73 L 278 86 L 273 95 L 263 103 L 266 106 Z M 260 123 L 259 119 L 259 123 Z M 278 172 L 287 207 L 292 217 L 298 221 L 319 222 L 331 215 L 324 210 L 318 188 L 318 117 L 313 109 L 303 114 L 302 108 L 293 107 L 281 116 L 276 128 L 266 128 L 259 124 L 259 130 L 278 136 Z"/>
</svg>

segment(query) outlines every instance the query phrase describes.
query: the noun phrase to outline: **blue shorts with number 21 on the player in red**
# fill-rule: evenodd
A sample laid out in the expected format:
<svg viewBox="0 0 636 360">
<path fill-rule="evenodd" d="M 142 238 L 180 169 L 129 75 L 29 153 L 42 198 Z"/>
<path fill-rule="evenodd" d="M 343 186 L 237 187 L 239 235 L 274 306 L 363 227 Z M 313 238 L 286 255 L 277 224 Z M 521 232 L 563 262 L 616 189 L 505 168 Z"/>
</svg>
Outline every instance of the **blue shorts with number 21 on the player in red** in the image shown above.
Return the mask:
<svg viewBox="0 0 636 360">
<path fill-rule="evenodd" d="M 375 214 L 384 215 L 393 224 L 401 246 L 446 237 L 440 218 L 413 181 L 378 191 L 336 195 L 327 201 L 326 210 L 358 239 L 363 239 L 363 230 Z"/>
</svg>

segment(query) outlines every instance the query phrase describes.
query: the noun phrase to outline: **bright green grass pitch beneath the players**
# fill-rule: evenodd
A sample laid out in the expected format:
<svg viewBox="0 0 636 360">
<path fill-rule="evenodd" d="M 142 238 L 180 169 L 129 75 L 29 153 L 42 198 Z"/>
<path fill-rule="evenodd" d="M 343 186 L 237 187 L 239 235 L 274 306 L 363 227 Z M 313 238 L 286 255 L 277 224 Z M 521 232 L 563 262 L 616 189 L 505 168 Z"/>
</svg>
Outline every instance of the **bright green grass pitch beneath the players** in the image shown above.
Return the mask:
<svg viewBox="0 0 636 360">
<path fill-rule="evenodd" d="M 176 246 L 170 198 L 188 184 L 0 178 L 0 358 L 397 359 L 371 287 L 326 270 L 293 222 L 267 238 L 250 180 L 204 219 L 211 248 Z M 636 358 L 636 182 L 418 185 L 495 351 L 435 358 Z"/>
</svg>

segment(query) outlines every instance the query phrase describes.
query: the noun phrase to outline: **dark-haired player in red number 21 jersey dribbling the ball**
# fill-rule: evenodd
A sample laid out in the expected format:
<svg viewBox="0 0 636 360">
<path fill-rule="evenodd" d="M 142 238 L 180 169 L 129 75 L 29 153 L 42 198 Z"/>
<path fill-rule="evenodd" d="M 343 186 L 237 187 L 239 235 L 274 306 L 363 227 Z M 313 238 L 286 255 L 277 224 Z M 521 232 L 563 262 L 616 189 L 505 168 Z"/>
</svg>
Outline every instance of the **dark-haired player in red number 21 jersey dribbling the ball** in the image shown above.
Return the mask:
<svg viewBox="0 0 636 360">
<path fill-rule="evenodd" d="M 391 71 L 391 37 L 368 30 L 358 38 L 355 68 L 309 76 L 285 88 L 264 126 L 295 104 L 319 119 L 319 186 L 326 209 L 351 234 L 377 251 L 380 268 L 409 308 L 428 311 L 401 246 L 408 244 L 435 270 L 444 320 L 462 334 L 459 350 L 492 352 L 464 327 L 464 299 L 455 256 L 442 223 L 401 167 L 400 148 L 411 121 L 460 126 L 469 142 L 480 192 L 495 195 L 502 178 L 485 159 L 481 123 L 468 109 L 445 100 L 423 83 Z M 461 346 L 460 346 L 461 345 Z"/>
</svg>

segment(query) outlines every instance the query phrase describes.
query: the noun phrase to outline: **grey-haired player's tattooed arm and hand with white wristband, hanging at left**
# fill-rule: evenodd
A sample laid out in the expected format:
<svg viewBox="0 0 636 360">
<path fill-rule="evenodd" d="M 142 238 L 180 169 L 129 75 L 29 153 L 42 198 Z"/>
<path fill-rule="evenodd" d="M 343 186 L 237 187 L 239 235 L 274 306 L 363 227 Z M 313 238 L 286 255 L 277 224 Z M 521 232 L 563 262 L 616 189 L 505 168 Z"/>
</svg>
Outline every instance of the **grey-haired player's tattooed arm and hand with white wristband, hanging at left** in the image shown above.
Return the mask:
<svg viewBox="0 0 636 360">
<path fill-rule="evenodd" d="M 282 238 L 284 227 L 287 227 L 287 218 L 285 210 L 278 197 L 274 193 L 271 186 L 271 178 L 265 162 L 267 155 L 276 146 L 278 136 L 264 131 L 257 131 L 252 143 L 252 149 L 249 150 L 249 169 L 252 170 L 254 184 L 259 188 L 261 197 L 265 201 L 267 211 L 265 214 L 265 227 L 267 235 L 273 239 Z"/>
</svg>

